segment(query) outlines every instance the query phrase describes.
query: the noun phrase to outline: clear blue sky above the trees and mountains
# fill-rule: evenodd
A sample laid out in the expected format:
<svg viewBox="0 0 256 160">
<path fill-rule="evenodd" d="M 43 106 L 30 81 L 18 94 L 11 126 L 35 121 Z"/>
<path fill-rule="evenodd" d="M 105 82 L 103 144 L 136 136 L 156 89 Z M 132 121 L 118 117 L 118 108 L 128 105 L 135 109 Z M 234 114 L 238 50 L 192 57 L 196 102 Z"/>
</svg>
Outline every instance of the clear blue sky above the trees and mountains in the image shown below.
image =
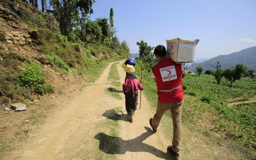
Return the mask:
<svg viewBox="0 0 256 160">
<path fill-rule="evenodd" d="M 131 53 L 137 41 L 151 46 L 165 39 L 199 39 L 196 59 L 213 58 L 256 46 L 255 0 L 95 0 L 91 19 L 109 17 L 114 9 L 116 36 Z"/>
</svg>

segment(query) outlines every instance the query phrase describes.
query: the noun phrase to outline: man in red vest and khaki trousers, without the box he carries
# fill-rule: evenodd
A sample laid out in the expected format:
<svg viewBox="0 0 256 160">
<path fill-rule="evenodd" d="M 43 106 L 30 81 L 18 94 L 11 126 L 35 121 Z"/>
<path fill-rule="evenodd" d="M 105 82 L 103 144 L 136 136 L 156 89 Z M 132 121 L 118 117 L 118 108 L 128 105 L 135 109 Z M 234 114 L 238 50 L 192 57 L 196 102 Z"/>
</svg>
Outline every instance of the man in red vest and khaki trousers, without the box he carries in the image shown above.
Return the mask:
<svg viewBox="0 0 256 160">
<path fill-rule="evenodd" d="M 166 49 L 163 45 L 156 46 L 154 50 L 156 59 L 159 61 L 152 68 L 152 78 L 157 84 L 157 109 L 149 124 L 153 131 L 157 127 L 165 111 L 171 109 L 173 123 L 172 146 L 167 147 L 167 151 L 174 159 L 179 159 L 179 148 L 181 141 L 181 114 L 183 102 L 183 88 L 181 79 L 185 76 L 183 64 L 177 64 L 166 57 Z"/>
</svg>

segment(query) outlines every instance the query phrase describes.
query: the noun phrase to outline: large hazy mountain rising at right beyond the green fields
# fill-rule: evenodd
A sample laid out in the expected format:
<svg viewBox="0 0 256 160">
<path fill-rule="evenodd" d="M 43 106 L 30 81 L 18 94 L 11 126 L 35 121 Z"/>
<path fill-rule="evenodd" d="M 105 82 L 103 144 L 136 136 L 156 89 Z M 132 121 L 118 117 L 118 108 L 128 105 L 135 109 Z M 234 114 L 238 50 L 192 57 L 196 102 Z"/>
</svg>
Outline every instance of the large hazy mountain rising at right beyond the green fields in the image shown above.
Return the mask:
<svg viewBox="0 0 256 160">
<path fill-rule="evenodd" d="M 222 69 L 232 68 L 235 67 L 236 64 L 241 63 L 248 67 L 248 70 L 256 70 L 256 46 L 228 55 L 220 55 L 211 58 L 210 60 L 202 62 L 201 67 L 204 68 L 204 71 L 207 69 L 215 71 L 218 61 L 220 62 Z M 195 72 L 197 66 L 199 66 L 199 63 L 194 63 L 187 69 L 191 72 Z"/>
</svg>

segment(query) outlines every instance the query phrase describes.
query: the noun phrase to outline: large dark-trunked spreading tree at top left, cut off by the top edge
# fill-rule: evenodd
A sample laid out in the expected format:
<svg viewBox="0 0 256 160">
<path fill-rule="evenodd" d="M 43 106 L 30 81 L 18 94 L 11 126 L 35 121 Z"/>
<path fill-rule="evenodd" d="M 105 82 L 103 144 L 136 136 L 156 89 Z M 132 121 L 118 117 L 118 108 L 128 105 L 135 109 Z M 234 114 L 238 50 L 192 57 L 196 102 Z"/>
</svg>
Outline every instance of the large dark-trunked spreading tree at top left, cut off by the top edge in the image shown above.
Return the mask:
<svg viewBox="0 0 256 160">
<path fill-rule="evenodd" d="M 95 3 L 95 0 L 50 0 L 55 10 L 56 20 L 60 23 L 61 34 L 68 36 L 70 32 L 68 28 L 72 29 L 72 24 L 74 24 L 72 22 L 77 21 L 79 13 L 93 13 L 93 2 Z"/>
</svg>

